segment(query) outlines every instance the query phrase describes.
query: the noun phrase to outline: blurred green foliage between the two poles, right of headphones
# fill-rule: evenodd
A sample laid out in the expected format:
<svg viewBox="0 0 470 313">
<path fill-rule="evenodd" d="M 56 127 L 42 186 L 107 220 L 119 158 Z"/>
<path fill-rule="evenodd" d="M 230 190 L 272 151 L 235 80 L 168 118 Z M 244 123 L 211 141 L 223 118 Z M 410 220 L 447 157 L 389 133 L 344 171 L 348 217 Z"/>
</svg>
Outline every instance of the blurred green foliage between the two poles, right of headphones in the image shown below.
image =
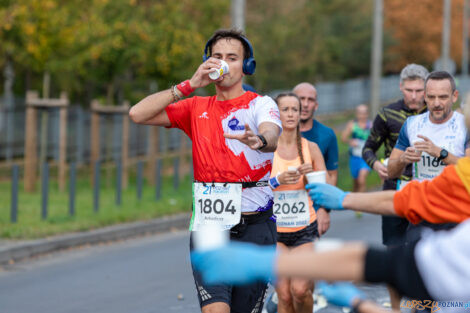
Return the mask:
<svg viewBox="0 0 470 313">
<path fill-rule="evenodd" d="M 370 0 L 248 2 L 260 89 L 368 75 Z"/>
</svg>

